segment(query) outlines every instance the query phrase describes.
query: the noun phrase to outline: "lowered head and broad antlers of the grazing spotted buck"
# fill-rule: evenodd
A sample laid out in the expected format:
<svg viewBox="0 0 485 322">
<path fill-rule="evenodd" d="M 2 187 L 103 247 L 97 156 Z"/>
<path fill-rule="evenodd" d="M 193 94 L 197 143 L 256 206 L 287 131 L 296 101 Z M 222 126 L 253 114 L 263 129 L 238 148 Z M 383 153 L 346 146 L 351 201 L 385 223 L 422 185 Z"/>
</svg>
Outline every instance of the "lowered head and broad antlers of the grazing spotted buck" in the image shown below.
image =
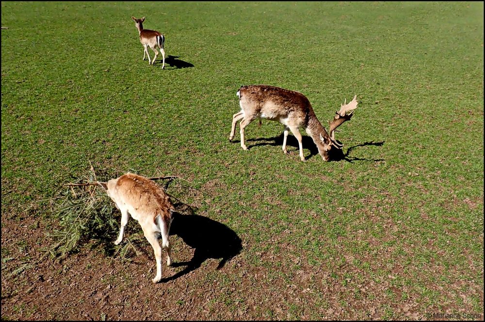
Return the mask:
<svg viewBox="0 0 485 322">
<path fill-rule="evenodd" d="M 339 111 L 335 111 L 334 119 L 329 122 L 329 131 L 328 134 L 326 131 L 323 131 L 319 134 L 322 146 L 319 147 L 319 153 L 322 156 L 324 161 L 330 161 L 330 155 L 332 153 L 332 149 L 342 150 L 343 144 L 337 142 L 335 140 L 335 130 L 343 124 L 343 122 L 350 120 L 352 117 L 354 110 L 357 108 L 357 95 L 354 96 L 352 102 L 347 103 L 347 100 L 340 106 Z M 350 112 L 347 114 L 347 112 Z M 318 145 L 317 145 L 318 146 Z"/>
</svg>

